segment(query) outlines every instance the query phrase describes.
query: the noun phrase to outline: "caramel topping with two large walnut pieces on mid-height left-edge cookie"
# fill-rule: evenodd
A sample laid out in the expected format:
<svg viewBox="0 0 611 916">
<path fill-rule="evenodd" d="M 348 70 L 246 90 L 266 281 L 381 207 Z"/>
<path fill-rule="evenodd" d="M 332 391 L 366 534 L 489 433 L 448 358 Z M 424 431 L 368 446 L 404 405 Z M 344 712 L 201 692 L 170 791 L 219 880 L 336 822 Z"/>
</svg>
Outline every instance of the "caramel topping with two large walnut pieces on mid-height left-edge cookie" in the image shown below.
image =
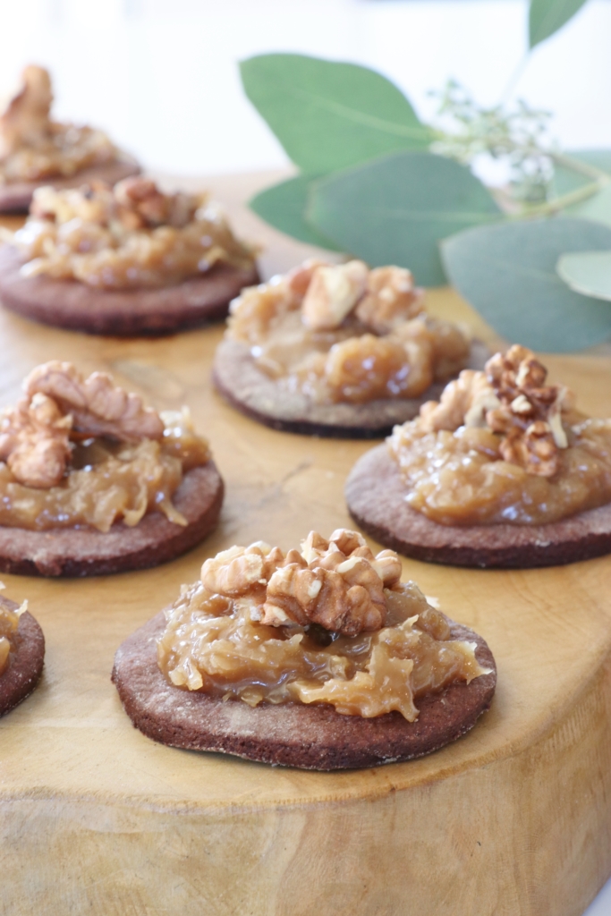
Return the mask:
<svg viewBox="0 0 611 916">
<path fill-rule="evenodd" d="M 111 376 L 71 363 L 35 368 L 0 421 L 0 524 L 27 529 L 136 525 L 158 509 L 186 520 L 171 496 L 210 458 L 186 409 L 158 414 Z"/>
</svg>

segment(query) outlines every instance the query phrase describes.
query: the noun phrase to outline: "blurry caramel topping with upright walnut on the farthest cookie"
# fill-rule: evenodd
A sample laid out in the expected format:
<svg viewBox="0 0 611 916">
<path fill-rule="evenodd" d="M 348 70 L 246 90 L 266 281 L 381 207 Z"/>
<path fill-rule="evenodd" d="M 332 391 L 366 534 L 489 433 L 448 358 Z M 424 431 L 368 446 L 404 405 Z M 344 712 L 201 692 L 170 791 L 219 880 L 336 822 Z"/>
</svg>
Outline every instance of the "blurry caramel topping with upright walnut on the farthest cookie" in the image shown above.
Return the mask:
<svg viewBox="0 0 611 916">
<path fill-rule="evenodd" d="M 118 157 L 101 130 L 51 120 L 48 71 L 29 66 L 21 78 L 21 89 L 0 114 L 0 184 L 70 176 Z"/>
</svg>

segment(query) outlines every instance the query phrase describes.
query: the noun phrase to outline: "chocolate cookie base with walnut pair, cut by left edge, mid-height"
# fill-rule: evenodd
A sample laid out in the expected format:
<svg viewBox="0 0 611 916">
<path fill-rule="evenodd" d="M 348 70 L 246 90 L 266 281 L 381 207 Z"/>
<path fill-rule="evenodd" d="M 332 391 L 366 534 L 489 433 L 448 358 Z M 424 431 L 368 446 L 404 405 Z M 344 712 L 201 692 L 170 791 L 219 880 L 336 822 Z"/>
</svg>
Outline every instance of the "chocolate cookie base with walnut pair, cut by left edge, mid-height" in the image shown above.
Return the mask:
<svg viewBox="0 0 611 916">
<path fill-rule="evenodd" d="M 161 512 L 148 513 L 134 528 L 115 522 L 105 534 L 85 528 L 0 527 L 0 572 L 88 576 L 158 566 L 190 550 L 216 527 L 223 495 L 223 480 L 211 461 L 188 471 L 173 496 L 174 506 L 187 518 L 185 527 Z"/>
</svg>

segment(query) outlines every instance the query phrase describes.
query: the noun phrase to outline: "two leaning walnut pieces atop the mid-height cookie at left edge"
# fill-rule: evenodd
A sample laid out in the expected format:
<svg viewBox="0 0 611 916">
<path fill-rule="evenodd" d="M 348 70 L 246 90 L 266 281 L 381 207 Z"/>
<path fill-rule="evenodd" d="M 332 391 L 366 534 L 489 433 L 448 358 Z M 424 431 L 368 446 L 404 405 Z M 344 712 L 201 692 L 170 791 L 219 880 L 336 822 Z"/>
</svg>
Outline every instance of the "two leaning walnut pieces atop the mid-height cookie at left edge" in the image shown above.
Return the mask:
<svg viewBox="0 0 611 916">
<path fill-rule="evenodd" d="M 164 434 L 157 411 L 115 387 L 103 372 L 85 379 L 71 363 L 54 360 L 33 369 L 24 390 L 26 397 L 6 410 L 0 422 L 0 460 L 26 486 L 45 489 L 60 483 L 75 434 L 133 443 Z"/>
</svg>

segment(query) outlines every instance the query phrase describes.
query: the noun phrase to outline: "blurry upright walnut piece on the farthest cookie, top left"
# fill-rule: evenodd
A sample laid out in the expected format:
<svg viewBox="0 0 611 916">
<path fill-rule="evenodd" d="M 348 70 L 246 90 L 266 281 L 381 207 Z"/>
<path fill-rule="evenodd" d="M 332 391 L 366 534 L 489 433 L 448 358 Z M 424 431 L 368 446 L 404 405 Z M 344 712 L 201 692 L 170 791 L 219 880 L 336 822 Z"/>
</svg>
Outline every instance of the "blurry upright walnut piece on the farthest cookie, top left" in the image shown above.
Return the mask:
<svg viewBox="0 0 611 916">
<path fill-rule="evenodd" d="M 29 66 L 21 74 L 23 88 L 0 116 L 0 158 L 19 147 L 35 146 L 50 131 L 49 111 L 53 101 L 49 72 Z"/>
</svg>

